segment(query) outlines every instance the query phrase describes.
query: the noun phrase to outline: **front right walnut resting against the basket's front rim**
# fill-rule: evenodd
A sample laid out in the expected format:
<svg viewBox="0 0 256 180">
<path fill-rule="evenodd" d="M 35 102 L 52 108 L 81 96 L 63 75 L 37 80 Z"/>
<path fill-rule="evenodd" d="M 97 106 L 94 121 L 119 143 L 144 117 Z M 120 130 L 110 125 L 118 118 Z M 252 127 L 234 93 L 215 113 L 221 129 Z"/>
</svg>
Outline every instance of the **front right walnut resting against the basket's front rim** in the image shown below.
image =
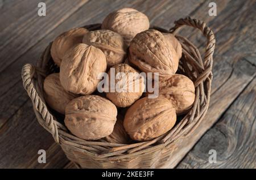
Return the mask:
<svg viewBox="0 0 256 180">
<path fill-rule="evenodd" d="M 175 108 L 167 98 L 144 97 L 127 110 L 123 126 L 131 139 L 143 141 L 163 135 L 175 122 Z"/>
</svg>

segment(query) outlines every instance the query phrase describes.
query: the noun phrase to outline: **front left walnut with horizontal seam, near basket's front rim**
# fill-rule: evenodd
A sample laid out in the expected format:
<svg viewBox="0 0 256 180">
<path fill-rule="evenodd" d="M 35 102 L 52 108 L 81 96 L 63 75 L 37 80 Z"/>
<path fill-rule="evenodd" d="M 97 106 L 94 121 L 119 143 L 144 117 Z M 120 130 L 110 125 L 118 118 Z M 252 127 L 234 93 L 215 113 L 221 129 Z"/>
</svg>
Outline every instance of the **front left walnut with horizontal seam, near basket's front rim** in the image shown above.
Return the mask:
<svg viewBox="0 0 256 180">
<path fill-rule="evenodd" d="M 106 98 L 80 96 L 65 109 L 65 125 L 81 139 L 97 140 L 112 133 L 117 120 L 117 108 Z"/>
</svg>

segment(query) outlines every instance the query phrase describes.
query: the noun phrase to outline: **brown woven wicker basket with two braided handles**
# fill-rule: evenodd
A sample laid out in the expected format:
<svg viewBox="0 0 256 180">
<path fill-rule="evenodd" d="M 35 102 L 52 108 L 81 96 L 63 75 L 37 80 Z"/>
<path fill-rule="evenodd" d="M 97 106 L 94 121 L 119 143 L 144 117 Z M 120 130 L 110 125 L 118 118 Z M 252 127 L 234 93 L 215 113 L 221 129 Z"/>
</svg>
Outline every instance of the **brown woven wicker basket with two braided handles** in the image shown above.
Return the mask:
<svg viewBox="0 0 256 180">
<path fill-rule="evenodd" d="M 53 63 L 50 48 L 46 48 L 36 66 L 24 65 L 22 80 L 30 96 L 34 112 L 40 125 L 49 131 L 56 143 L 77 168 L 168 168 L 172 160 L 175 142 L 182 140 L 200 124 L 209 106 L 210 85 L 212 82 L 212 64 L 215 38 L 213 32 L 200 20 L 190 17 L 175 22 L 170 31 L 152 27 L 161 32 L 174 33 L 182 25 L 197 29 L 207 37 L 204 60 L 199 50 L 187 40 L 176 36 L 183 48 L 179 63 L 179 74 L 187 75 L 195 84 L 196 98 L 191 110 L 166 134 L 147 142 L 134 144 L 115 144 L 104 140 L 87 141 L 72 135 L 63 125 L 63 117 L 48 108 L 43 96 L 43 81 L 46 75 L 59 72 Z M 89 30 L 100 29 L 101 24 L 88 25 Z"/>
</svg>

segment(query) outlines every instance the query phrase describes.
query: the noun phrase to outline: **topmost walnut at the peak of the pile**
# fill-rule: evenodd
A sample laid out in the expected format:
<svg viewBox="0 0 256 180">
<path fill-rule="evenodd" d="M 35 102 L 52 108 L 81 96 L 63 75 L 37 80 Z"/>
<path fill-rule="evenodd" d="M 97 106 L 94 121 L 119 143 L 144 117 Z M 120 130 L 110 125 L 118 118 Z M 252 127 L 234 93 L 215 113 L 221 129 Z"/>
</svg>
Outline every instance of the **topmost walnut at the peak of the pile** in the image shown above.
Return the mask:
<svg viewBox="0 0 256 180">
<path fill-rule="evenodd" d="M 131 41 L 137 33 L 150 27 L 149 20 L 142 12 L 133 8 L 122 8 L 110 13 L 102 22 L 102 29 L 119 33 L 126 41 Z"/>
</svg>

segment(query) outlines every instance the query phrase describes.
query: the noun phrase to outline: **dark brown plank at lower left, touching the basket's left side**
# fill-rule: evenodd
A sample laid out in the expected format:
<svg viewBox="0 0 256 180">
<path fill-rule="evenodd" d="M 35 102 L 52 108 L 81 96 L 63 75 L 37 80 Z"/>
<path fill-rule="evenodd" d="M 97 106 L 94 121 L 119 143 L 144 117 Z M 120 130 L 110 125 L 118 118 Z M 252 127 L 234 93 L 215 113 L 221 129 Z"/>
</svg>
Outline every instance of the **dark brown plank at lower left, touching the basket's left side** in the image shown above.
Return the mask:
<svg viewBox="0 0 256 180">
<path fill-rule="evenodd" d="M 27 101 L 0 129 L 1 168 L 26 168 L 28 164 L 24 162 L 25 156 L 27 161 L 35 158 L 37 160 L 39 149 L 51 147 L 51 134 L 46 133 L 46 130 L 35 121 L 34 114 L 27 113 L 27 109 L 31 108 L 31 103 Z M 30 119 L 30 122 L 24 123 L 26 119 Z M 34 136 L 36 137 L 31 138 Z"/>
</svg>

